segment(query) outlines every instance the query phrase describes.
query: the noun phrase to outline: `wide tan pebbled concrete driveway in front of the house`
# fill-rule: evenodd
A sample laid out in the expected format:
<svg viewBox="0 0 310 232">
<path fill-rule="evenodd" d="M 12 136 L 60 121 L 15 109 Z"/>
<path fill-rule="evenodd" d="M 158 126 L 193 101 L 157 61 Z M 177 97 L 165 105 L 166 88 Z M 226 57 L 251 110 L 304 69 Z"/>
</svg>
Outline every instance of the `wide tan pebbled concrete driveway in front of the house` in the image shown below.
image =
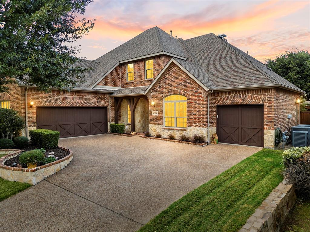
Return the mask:
<svg viewBox="0 0 310 232">
<path fill-rule="evenodd" d="M 189 191 L 258 152 L 139 136 L 59 140 L 73 160 L 1 202 L 1 231 L 135 231 Z"/>
</svg>

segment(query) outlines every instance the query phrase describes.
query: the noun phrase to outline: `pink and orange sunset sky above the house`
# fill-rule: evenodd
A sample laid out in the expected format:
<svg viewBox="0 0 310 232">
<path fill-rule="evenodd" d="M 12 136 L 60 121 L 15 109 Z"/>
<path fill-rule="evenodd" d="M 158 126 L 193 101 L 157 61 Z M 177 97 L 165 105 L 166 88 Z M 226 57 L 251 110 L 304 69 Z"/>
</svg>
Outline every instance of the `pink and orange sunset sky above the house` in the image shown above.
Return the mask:
<svg viewBox="0 0 310 232">
<path fill-rule="evenodd" d="M 184 40 L 213 32 L 260 61 L 286 50 L 310 51 L 310 1 L 103 1 L 86 18 L 95 28 L 77 42 L 79 56 L 96 59 L 158 26 Z"/>
</svg>

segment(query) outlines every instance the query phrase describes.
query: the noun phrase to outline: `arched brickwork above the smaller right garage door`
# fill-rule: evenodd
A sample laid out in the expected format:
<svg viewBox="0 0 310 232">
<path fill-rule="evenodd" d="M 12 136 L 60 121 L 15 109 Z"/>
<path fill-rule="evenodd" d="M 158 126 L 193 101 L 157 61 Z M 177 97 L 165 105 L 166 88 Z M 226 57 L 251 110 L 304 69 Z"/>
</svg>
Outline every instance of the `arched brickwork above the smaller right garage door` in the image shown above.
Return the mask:
<svg viewBox="0 0 310 232">
<path fill-rule="evenodd" d="M 262 104 L 266 101 L 265 97 L 259 97 L 252 94 L 232 94 L 215 100 L 216 105 L 234 105 L 234 104 Z"/>
</svg>

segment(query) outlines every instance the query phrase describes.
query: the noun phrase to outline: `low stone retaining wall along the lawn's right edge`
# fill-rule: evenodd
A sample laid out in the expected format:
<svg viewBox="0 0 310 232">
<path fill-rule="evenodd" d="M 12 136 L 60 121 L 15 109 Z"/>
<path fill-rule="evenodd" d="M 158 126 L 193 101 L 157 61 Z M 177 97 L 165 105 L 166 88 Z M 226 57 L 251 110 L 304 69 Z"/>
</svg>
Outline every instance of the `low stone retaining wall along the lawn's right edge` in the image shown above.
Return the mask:
<svg viewBox="0 0 310 232">
<path fill-rule="evenodd" d="M 294 206 L 294 187 L 282 181 L 256 209 L 239 232 L 278 232 Z"/>
</svg>

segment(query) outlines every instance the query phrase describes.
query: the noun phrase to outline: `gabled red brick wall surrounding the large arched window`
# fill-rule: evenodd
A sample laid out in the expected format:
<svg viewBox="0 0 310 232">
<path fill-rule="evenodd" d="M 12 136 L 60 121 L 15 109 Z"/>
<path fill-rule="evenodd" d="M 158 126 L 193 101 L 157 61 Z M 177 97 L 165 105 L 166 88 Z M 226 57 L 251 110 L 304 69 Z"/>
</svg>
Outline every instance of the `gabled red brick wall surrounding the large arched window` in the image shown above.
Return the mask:
<svg viewBox="0 0 310 232">
<path fill-rule="evenodd" d="M 170 94 L 182 94 L 187 97 L 188 127 L 207 126 L 207 98 L 203 97 L 201 87 L 175 64 L 170 66 L 152 89 L 151 98 L 155 107 L 149 105 L 149 124 L 163 125 L 163 97 Z M 158 116 L 153 116 L 152 110 L 157 110 Z"/>
</svg>

